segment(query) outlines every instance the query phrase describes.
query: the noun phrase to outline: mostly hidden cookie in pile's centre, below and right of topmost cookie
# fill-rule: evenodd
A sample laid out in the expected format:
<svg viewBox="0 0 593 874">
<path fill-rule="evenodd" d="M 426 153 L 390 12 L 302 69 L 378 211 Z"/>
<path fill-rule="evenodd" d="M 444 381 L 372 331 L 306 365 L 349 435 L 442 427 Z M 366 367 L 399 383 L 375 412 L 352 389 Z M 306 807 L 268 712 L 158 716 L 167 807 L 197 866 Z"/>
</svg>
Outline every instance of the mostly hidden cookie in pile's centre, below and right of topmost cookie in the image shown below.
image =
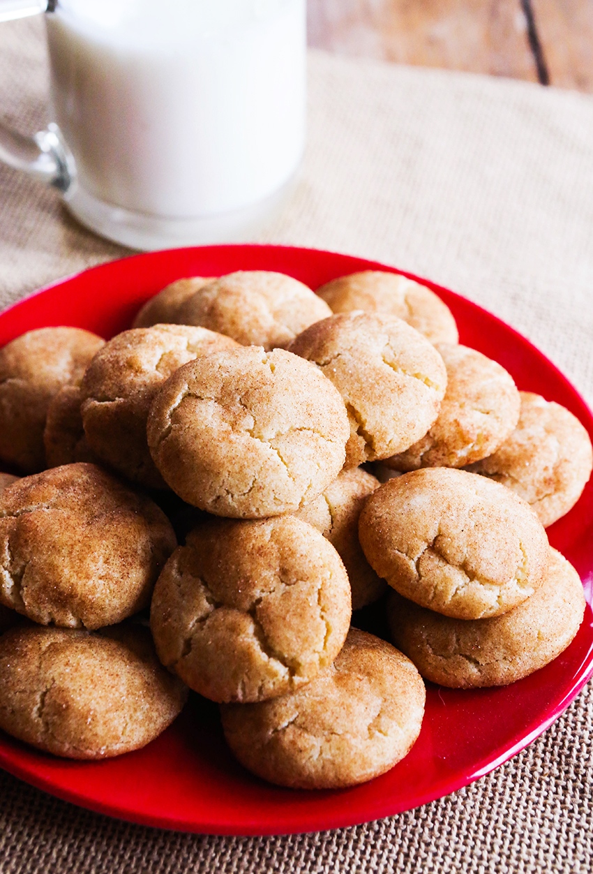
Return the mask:
<svg viewBox="0 0 593 874">
<path fill-rule="evenodd" d="M 364 502 L 379 485 L 376 477 L 362 468 L 342 470 L 319 497 L 294 514 L 314 525 L 337 550 L 348 572 L 353 610 L 372 604 L 388 588 L 364 558 L 358 541 L 358 517 Z"/>
</svg>

